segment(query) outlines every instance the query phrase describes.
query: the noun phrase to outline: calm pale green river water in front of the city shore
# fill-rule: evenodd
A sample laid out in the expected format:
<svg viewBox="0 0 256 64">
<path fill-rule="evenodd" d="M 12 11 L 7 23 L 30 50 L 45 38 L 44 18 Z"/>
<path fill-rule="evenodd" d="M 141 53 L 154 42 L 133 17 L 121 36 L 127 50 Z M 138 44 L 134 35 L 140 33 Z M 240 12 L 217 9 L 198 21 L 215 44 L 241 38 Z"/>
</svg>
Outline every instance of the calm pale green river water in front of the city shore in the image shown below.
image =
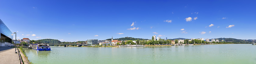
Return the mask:
<svg viewBox="0 0 256 64">
<path fill-rule="evenodd" d="M 25 48 L 34 64 L 256 64 L 256 45 Z"/>
</svg>

